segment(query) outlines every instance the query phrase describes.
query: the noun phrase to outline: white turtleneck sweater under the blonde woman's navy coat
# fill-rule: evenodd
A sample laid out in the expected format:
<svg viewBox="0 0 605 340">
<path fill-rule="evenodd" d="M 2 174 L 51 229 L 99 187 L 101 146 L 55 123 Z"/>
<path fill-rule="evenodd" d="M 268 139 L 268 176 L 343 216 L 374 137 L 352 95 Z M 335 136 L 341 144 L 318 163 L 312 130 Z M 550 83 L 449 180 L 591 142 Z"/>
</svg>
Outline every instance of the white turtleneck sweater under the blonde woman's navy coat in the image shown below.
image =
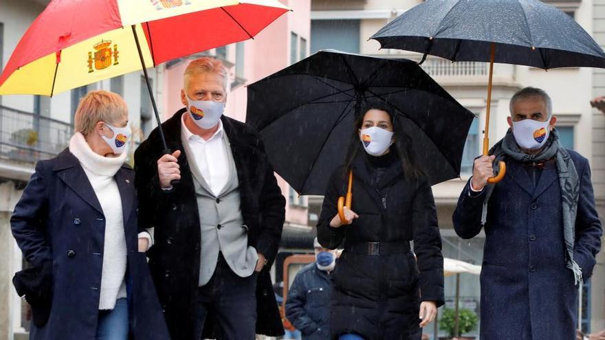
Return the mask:
<svg viewBox="0 0 605 340">
<path fill-rule="evenodd" d="M 69 141 L 69 151 L 80 161 L 103 210 L 105 235 L 99 309 L 113 309 L 116 299 L 126 297 L 126 237 L 122 197 L 113 178 L 124 163 L 126 152 L 114 158 L 98 155 L 81 133 L 76 133 Z"/>
</svg>

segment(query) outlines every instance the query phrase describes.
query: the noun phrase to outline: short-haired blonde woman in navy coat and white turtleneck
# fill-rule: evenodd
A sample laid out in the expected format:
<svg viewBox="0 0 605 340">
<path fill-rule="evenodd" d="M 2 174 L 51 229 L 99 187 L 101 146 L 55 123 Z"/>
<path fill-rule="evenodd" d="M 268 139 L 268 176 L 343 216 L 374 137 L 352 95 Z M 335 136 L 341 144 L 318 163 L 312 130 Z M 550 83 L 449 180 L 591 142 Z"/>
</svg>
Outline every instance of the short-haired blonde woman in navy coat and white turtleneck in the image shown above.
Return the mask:
<svg viewBox="0 0 605 340">
<path fill-rule="evenodd" d="M 36 164 L 11 218 L 33 266 L 14 280 L 32 304 L 30 339 L 168 339 L 146 266 L 151 237 L 137 227 L 134 172 L 124 165 L 126 103 L 91 91 L 75 131 L 69 148 Z"/>
</svg>

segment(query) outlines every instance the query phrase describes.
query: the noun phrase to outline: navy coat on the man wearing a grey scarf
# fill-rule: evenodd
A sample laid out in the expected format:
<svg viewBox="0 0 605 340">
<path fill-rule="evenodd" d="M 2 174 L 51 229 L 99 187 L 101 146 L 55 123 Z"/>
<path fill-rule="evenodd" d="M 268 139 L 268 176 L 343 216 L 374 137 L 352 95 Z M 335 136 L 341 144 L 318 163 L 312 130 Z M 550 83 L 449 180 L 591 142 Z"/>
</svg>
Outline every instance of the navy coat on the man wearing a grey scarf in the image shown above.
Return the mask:
<svg viewBox="0 0 605 340">
<path fill-rule="evenodd" d="M 602 228 L 595 210 L 588 160 L 568 150 L 580 177 L 574 260 L 592 275 Z M 561 188 L 554 163 L 534 188 L 522 164 L 507 159 L 507 174 L 487 205 L 481 270 L 481 339 L 575 339 L 577 286 L 566 268 Z M 461 238 L 481 231 L 485 190 L 463 190 L 454 212 Z"/>
</svg>

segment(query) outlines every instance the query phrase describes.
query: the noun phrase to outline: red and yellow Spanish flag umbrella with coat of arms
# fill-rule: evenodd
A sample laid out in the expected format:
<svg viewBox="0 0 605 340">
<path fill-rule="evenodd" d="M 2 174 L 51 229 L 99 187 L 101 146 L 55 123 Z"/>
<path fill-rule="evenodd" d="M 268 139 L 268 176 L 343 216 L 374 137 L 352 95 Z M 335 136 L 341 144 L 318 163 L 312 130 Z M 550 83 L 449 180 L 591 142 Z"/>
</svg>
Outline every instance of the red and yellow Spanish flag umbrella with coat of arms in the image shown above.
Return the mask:
<svg viewBox="0 0 605 340">
<path fill-rule="evenodd" d="M 0 95 L 52 97 L 140 69 L 148 79 L 146 67 L 253 38 L 287 11 L 278 0 L 53 0 L 14 49 Z"/>
</svg>

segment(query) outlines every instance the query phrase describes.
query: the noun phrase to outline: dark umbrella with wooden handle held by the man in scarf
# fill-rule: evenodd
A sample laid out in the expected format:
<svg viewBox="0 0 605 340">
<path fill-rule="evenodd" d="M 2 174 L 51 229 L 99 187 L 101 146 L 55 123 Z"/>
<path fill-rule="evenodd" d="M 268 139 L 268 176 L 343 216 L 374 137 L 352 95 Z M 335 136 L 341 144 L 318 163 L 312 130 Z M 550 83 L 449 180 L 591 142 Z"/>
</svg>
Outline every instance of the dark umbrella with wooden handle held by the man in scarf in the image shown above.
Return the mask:
<svg viewBox="0 0 605 340">
<path fill-rule="evenodd" d="M 571 16 L 538 0 L 426 1 L 371 38 L 382 48 L 421 52 L 423 60 L 432 54 L 452 61 L 490 62 L 483 155 L 489 145 L 494 62 L 541 69 L 605 68 L 605 53 L 593 38 Z"/>
</svg>

